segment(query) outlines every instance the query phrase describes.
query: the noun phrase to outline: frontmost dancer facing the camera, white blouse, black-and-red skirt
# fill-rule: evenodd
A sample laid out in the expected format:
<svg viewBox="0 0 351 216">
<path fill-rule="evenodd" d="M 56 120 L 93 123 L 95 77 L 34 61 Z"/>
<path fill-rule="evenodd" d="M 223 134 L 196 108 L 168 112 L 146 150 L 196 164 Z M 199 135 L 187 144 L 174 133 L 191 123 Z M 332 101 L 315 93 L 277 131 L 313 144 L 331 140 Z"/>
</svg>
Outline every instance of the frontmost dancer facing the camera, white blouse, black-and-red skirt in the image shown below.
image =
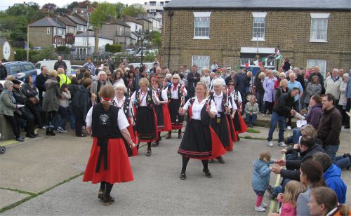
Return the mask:
<svg viewBox="0 0 351 216">
<path fill-rule="evenodd" d="M 183 108 L 179 108 L 180 115 L 183 116 L 187 112 L 188 116 L 183 140 L 178 149 L 178 154 L 183 158 L 180 180 L 186 179 L 185 170 L 190 158 L 201 160 L 204 166 L 202 171 L 206 177 L 212 177 L 208 170 L 208 159 L 217 158 L 226 152 L 210 126 L 211 118 L 217 114 L 216 105 L 206 97 L 206 85 L 198 82 L 196 96 L 190 98 Z"/>
</svg>

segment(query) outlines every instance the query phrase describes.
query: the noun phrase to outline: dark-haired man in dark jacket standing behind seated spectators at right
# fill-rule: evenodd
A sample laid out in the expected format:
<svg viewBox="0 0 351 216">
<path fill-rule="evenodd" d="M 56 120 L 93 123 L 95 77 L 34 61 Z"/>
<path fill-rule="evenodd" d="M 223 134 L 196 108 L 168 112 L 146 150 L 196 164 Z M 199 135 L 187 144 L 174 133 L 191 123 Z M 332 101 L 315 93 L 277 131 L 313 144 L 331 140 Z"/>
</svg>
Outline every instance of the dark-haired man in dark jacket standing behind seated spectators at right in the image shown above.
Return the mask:
<svg viewBox="0 0 351 216">
<path fill-rule="evenodd" d="M 343 118 L 334 107 L 335 97 L 326 94 L 322 98 L 323 114 L 319 121 L 317 137 L 322 140 L 323 148 L 326 154 L 329 154 L 333 163 L 336 160 L 336 152 L 340 145 L 340 131 L 343 124 Z"/>
</svg>

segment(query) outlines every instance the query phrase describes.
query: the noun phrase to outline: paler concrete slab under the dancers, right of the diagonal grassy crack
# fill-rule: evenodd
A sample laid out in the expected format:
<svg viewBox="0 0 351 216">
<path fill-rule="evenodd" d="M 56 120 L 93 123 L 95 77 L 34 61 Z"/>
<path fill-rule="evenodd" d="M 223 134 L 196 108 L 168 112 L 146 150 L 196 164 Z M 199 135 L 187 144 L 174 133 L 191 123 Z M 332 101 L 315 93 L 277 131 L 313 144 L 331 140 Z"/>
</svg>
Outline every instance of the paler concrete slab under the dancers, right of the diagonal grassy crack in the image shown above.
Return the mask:
<svg viewBox="0 0 351 216">
<path fill-rule="evenodd" d="M 152 149 L 151 157 L 145 156 L 144 147 L 140 156 L 131 158 L 135 181 L 114 186 L 112 195 L 117 200 L 112 205 L 103 206 L 97 198 L 98 185 L 81 182 L 79 176 L 3 215 L 257 215 L 253 211 L 251 162 L 260 151 L 268 149 L 264 141 L 242 140 L 236 144 L 234 151 L 224 156 L 225 165 L 209 165 L 211 179 L 202 174 L 201 161 L 191 160 L 186 181 L 179 179 L 181 158 L 176 154 L 179 142 L 163 140 L 160 147 Z M 38 147 L 38 143 L 28 146 Z M 278 147 L 271 150 L 275 157 L 280 156 Z M 71 152 L 66 152 L 67 155 L 58 155 L 62 163 L 71 158 Z M 88 152 L 82 151 L 81 157 L 86 161 Z M 22 156 L 22 160 L 25 158 Z M 271 181 L 274 184 L 275 175 Z M 265 201 L 269 202 L 267 197 Z"/>
</svg>

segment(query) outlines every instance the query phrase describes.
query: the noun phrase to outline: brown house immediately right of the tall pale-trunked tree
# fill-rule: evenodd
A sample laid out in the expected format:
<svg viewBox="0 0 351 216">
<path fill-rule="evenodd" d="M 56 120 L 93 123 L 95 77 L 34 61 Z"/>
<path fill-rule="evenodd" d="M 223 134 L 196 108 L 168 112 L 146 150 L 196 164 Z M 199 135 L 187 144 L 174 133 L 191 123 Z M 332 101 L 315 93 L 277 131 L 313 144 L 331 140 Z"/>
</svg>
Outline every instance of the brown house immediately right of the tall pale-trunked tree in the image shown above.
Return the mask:
<svg viewBox="0 0 351 216">
<path fill-rule="evenodd" d="M 114 40 L 114 43 L 131 45 L 131 27 L 123 20 L 117 18 L 107 18 L 102 24 L 101 34 Z"/>
</svg>

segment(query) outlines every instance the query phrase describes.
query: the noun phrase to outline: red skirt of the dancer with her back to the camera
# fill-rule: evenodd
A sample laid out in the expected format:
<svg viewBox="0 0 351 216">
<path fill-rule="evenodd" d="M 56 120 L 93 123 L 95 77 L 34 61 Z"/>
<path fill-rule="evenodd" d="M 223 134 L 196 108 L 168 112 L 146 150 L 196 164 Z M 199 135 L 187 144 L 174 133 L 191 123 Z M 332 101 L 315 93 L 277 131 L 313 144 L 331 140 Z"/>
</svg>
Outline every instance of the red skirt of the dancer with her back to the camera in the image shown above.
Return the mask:
<svg viewBox="0 0 351 216">
<path fill-rule="evenodd" d="M 122 139 L 108 140 L 107 170 L 105 170 L 102 160 L 100 171 L 96 173 L 95 169 L 98 163 L 99 152 L 98 138 L 95 137 L 93 140 L 93 147 L 91 147 L 91 154 L 86 165 L 83 182 L 91 181 L 93 184 L 109 182 L 110 184 L 114 184 L 116 182 L 131 182 L 134 180 L 131 163 L 129 163 L 126 147 Z"/>
</svg>

